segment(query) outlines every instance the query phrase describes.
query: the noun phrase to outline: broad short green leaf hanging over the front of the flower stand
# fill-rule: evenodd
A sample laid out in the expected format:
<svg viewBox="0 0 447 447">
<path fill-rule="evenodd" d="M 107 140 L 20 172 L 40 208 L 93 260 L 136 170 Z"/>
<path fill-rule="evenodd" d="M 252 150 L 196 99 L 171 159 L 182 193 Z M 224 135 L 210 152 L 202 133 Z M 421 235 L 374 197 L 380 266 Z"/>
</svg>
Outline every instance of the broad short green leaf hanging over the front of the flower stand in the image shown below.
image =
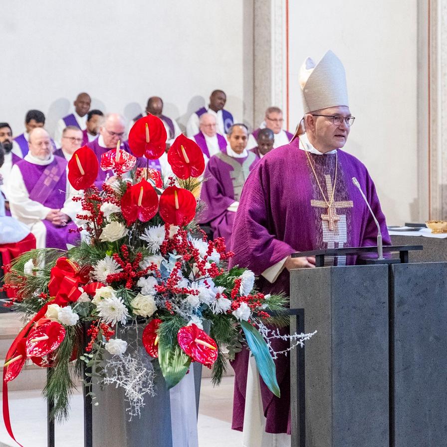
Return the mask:
<svg viewBox="0 0 447 447">
<path fill-rule="evenodd" d="M 178 344 L 173 349 L 172 345 L 164 343 L 160 339 L 158 361 L 166 386 L 169 389 L 176 386 L 183 379 L 190 367 L 191 357 L 188 357 Z"/>
</svg>

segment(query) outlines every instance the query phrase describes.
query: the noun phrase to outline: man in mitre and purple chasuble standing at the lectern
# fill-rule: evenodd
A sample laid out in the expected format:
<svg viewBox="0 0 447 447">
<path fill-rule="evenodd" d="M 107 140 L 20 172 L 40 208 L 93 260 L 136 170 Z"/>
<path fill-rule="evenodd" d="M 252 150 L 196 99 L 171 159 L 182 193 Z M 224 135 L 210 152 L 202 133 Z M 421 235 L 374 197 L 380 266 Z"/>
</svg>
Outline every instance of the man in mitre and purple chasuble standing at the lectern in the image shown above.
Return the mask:
<svg viewBox="0 0 447 447">
<path fill-rule="evenodd" d="M 341 61 L 328 51 L 315 66 L 306 60 L 300 73 L 306 133 L 265 155 L 245 183 L 233 226 L 230 267 L 250 268 L 263 293 L 289 294 L 289 270 L 312 268 L 314 258 L 291 258 L 297 251 L 319 248 L 374 246 L 377 227 L 359 191 L 356 177 L 371 204 L 383 235 L 391 244 L 376 189 L 365 166 L 340 148 L 345 146 L 354 117 L 348 105 L 345 72 Z M 305 87 L 305 88 L 304 88 Z M 355 258 L 329 259 L 328 265 L 355 263 Z M 289 341 L 274 340 L 281 351 Z M 298 348 L 299 349 L 299 348 Z M 289 357 L 280 356 L 276 374 L 281 398 L 262 379 L 247 382 L 255 366 L 249 353 L 240 352 L 235 370 L 232 428 L 243 430 L 244 446 L 290 446 Z M 248 369 L 247 369 L 248 368 Z M 256 408 L 265 417 L 263 427 Z M 274 440 L 274 439 L 275 440 Z"/>
</svg>

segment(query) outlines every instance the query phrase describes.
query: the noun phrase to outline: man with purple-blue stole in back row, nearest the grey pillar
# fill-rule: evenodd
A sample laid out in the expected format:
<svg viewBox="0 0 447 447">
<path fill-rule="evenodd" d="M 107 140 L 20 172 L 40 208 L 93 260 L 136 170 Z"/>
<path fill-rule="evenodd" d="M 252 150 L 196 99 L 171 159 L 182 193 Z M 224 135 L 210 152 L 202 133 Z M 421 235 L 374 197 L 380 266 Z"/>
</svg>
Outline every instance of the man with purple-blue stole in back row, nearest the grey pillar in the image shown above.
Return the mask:
<svg viewBox="0 0 447 447">
<path fill-rule="evenodd" d="M 186 134 L 189 138 L 193 138 L 194 135 L 199 133 L 199 119 L 204 113 L 211 113 L 216 117 L 218 124 L 218 132 L 221 135 L 228 133 L 229 128 L 234 123 L 234 118 L 228 110 L 224 109 L 226 103 L 226 95 L 222 90 L 214 90 L 210 96 L 210 103 L 208 108 L 201 107 L 196 110 L 188 119 L 186 124 Z"/>
</svg>

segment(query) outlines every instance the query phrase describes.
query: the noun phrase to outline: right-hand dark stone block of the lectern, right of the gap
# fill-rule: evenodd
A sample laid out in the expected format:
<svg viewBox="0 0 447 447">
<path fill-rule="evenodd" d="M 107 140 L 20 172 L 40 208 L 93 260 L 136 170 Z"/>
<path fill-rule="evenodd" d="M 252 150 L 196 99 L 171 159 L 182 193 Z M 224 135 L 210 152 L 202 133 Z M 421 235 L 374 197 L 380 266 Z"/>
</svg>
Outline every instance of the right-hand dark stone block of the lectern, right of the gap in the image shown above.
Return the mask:
<svg viewBox="0 0 447 447">
<path fill-rule="evenodd" d="M 445 447 L 447 263 L 393 265 L 390 283 L 392 446 Z"/>
</svg>

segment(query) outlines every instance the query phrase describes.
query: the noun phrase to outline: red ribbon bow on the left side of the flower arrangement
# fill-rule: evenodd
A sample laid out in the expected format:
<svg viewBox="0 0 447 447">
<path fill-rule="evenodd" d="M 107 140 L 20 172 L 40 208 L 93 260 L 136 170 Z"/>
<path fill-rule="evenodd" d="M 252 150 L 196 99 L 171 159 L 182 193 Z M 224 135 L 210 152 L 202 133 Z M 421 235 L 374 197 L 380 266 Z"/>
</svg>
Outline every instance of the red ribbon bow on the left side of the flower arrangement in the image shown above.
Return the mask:
<svg viewBox="0 0 447 447">
<path fill-rule="evenodd" d="M 83 278 L 79 273 L 79 267 L 70 259 L 62 256 L 56 261 L 48 282 L 50 296 L 55 297 L 53 304 L 63 306 L 81 296 L 82 292 L 78 287 L 83 283 Z"/>
</svg>

